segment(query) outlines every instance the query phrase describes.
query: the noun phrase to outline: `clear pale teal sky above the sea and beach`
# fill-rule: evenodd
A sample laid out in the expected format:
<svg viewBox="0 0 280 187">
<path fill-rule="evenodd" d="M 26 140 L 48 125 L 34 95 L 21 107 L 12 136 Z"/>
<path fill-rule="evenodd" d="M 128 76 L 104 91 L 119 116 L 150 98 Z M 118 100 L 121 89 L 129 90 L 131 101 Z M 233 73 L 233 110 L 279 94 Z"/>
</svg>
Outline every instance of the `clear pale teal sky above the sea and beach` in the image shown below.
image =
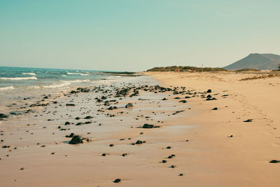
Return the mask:
<svg viewBox="0 0 280 187">
<path fill-rule="evenodd" d="M 280 55 L 278 0 L 0 1 L 0 66 L 144 71 Z"/>
</svg>

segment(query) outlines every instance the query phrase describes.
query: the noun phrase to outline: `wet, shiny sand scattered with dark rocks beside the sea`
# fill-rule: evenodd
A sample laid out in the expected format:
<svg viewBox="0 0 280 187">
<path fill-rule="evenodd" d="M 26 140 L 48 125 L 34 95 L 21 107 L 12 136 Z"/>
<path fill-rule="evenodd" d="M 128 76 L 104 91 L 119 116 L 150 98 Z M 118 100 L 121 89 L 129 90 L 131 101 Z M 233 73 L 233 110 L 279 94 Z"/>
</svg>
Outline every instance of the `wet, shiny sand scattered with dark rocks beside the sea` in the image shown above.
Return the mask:
<svg viewBox="0 0 280 187">
<path fill-rule="evenodd" d="M 125 97 L 116 97 L 121 87 L 112 85 L 66 93 L 55 104 L 50 97 L 47 106 L 32 106 L 34 113 L 2 120 L 1 147 L 8 147 L 0 149 L 1 185 L 116 186 L 113 181 L 121 179 L 122 186 L 154 186 L 180 180 L 183 169 L 169 167 L 183 158 L 174 154 L 188 146 L 187 132 L 193 127 L 177 120 L 188 116 L 188 104 L 174 100 L 172 91 L 141 86 L 123 85 L 132 88 Z M 104 106 L 110 100 L 118 109 Z M 129 102 L 133 106 L 125 108 Z M 160 127 L 141 128 L 145 123 Z M 71 145 L 65 137 L 71 133 L 90 141 Z M 146 142 L 135 144 L 138 140 Z"/>
</svg>

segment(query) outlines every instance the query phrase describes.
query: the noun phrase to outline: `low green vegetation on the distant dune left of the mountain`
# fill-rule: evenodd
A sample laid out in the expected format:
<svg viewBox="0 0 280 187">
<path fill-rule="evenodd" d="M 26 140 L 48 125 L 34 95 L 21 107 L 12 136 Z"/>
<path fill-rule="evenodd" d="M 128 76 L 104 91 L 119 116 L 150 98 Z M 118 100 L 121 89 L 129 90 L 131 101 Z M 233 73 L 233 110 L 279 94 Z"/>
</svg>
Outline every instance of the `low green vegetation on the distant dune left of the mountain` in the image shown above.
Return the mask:
<svg viewBox="0 0 280 187">
<path fill-rule="evenodd" d="M 152 69 L 148 69 L 147 71 L 227 71 L 223 68 L 220 67 L 177 67 L 177 66 L 172 66 L 172 67 L 154 67 Z"/>
</svg>

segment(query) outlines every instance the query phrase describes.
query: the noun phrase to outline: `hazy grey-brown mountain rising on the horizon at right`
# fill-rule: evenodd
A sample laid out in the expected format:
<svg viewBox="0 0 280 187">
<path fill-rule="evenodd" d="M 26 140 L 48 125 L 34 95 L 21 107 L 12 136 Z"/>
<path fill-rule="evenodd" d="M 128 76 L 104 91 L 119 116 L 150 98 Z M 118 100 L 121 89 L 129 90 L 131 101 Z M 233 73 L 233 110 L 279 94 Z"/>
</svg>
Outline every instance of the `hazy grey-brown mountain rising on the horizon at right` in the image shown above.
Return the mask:
<svg viewBox="0 0 280 187">
<path fill-rule="evenodd" d="M 278 69 L 279 64 L 280 55 L 253 53 L 223 68 L 228 70 Z"/>
</svg>

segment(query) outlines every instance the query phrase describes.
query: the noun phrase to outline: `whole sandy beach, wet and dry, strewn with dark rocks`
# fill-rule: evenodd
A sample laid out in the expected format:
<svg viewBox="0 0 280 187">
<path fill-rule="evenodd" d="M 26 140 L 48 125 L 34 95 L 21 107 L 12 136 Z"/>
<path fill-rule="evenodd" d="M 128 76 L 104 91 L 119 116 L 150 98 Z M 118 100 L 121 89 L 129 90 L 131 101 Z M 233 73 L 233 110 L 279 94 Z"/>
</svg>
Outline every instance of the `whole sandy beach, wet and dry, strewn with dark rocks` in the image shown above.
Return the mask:
<svg viewBox="0 0 280 187">
<path fill-rule="evenodd" d="M 280 164 L 269 163 L 280 159 L 278 76 L 141 74 L 154 81 L 69 90 L 1 120 L 1 185 L 280 185 Z M 71 133 L 83 144 L 69 144 Z"/>
</svg>

